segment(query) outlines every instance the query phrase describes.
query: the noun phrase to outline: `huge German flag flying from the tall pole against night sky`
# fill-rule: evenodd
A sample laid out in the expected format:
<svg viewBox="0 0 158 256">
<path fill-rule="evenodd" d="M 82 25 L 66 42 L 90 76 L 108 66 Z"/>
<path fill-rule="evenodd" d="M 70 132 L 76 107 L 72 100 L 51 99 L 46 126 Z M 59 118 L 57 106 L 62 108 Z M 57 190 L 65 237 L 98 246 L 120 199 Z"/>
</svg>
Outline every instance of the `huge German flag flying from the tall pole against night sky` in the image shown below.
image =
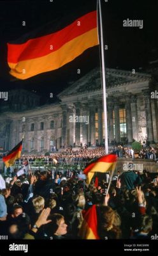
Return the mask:
<svg viewBox="0 0 158 256">
<path fill-rule="evenodd" d="M 29 39 L 23 36 L 17 42 L 8 43 L 10 74 L 18 79 L 27 79 L 55 70 L 98 45 L 97 12 L 92 11 L 76 18 L 66 27 L 57 31 L 55 29 L 54 33 L 49 31 L 48 35 L 36 38 L 29 36 Z M 50 26 L 54 29 L 54 24 Z"/>
</svg>

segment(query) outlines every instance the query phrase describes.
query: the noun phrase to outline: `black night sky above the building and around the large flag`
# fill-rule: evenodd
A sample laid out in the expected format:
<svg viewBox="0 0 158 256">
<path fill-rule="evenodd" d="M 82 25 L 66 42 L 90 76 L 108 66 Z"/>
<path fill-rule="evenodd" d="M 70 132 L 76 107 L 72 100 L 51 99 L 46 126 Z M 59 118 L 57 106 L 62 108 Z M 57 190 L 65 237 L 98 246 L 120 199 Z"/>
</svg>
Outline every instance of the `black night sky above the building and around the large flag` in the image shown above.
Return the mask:
<svg viewBox="0 0 158 256">
<path fill-rule="evenodd" d="M 85 51 L 75 61 L 58 70 L 39 74 L 24 81 L 10 81 L 7 65 L 6 42 L 16 40 L 25 33 L 33 31 L 43 24 L 54 20 L 59 15 L 68 15 L 79 8 L 96 4 L 96 0 L 34 0 L 34 1 L 0 1 L 0 90 L 15 88 L 36 90 L 43 95 L 43 103 L 50 92 L 57 95 L 75 81 L 99 67 L 99 47 Z M 108 0 L 102 2 L 104 44 L 108 45 L 105 52 L 106 67 L 124 70 L 145 70 L 149 61 L 158 59 L 157 51 L 157 0 Z M 143 29 L 124 28 L 124 19 L 143 19 Z M 22 26 L 25 20 L 26 26 Z M 76 70 L 80 68 L 81 74 Z M 142 69 L 140 69 L 142 68 Z M 54 98 L 55 99 L 55 98 Z"/>
</svg>

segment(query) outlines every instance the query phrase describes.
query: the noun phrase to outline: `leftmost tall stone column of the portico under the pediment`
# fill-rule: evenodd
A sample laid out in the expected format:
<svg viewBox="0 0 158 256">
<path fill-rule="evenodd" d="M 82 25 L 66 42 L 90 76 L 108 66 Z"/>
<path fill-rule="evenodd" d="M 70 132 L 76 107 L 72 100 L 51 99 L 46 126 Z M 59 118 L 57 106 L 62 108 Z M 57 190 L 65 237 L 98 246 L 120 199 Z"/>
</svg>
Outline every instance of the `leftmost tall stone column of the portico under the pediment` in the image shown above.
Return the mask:
<svg viewBox="0 0 158 256">
<path fill-rule="evenodd" d="M 62 105 L 62 147 L 66 148 L 67 146 L 67 106 Z"/>
</svg>

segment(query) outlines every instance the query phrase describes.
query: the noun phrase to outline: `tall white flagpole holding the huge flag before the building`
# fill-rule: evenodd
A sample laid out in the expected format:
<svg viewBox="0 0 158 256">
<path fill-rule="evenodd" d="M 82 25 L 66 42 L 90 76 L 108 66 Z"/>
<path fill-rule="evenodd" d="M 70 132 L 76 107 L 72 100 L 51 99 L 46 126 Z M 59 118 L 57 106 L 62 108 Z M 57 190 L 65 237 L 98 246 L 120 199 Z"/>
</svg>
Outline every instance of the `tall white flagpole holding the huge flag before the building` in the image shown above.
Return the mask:
<svg viewBox="0 0 158 256">
<path fill-rule="evenodd" d="M 101 30 L 101 64 L 102 64 L 102 79 L 103 79 L 103 109 L 104 109 L 104 150 L 108 154 L 108 124 L 107 124 L 107 109 L 106 109 L 106 80 L 105 80 L 105 61 L 104 61 L 104 41 L 103 41 L 103 22 L 101 13 L 101 0 L 99 3 L 99 21 Z"/>
</svg>

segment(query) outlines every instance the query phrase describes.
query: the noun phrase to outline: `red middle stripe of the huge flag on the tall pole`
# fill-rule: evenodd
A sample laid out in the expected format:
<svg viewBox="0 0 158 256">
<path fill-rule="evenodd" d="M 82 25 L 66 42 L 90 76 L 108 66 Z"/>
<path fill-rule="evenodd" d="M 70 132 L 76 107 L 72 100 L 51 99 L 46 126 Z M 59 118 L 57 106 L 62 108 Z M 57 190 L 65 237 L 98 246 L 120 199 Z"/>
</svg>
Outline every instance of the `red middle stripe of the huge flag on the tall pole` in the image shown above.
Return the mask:
<svg viewBox="0 0 158 256">
<path fill-rule="evenodd" d="M 77 22 L 80 22 L 80 26 L 78 26 Z M 8 62 L 18 63 L 19 61 L 45 56 L 57 51 L 62 45 L 96 27 L 97 12 L 94 11 L 79 17 L 75 22 L 61 29 L 61 31 L 30 39 L 24 44 L 8 43 Z M 53 46 L 53 49 L 50 49 L 50 45 Z"/>
</svg>

